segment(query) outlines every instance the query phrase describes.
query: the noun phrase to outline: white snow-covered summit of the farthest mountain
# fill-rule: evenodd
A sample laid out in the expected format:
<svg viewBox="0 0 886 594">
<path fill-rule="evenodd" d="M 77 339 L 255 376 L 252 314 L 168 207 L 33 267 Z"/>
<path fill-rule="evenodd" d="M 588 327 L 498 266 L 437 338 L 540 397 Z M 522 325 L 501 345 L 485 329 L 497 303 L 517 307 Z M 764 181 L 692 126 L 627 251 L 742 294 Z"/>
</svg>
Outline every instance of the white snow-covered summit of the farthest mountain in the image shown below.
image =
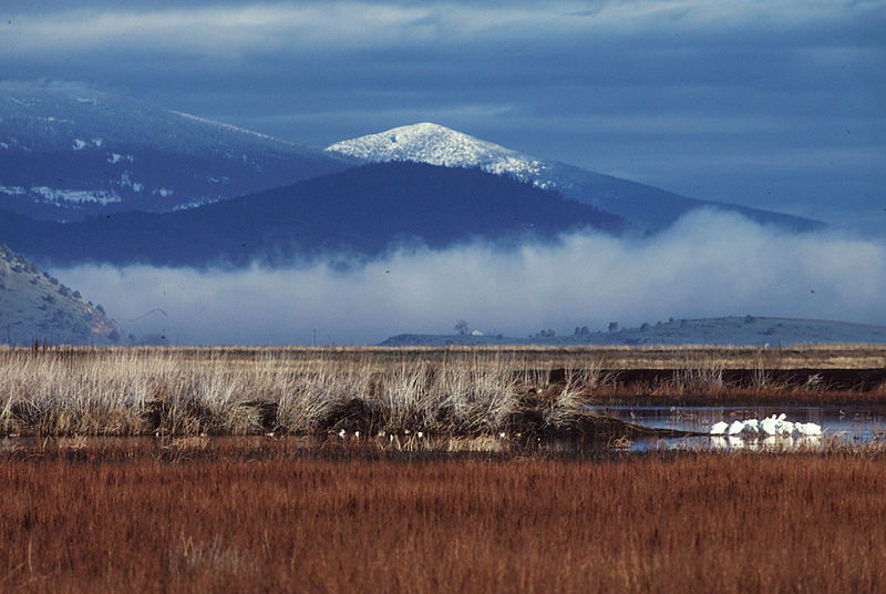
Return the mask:
<svg viewBox="0 0 886 594">
<path fill-rule="evenodd" d="M 494 174 L 536 180 L 545 163 L 446 126 L 422 122 L 338 142 L 327 151 L 372 162 L 415 161 L 449 167 L 481 167 Z M 540 183 L 539 183 L 540 182 Z"/>
</svg>

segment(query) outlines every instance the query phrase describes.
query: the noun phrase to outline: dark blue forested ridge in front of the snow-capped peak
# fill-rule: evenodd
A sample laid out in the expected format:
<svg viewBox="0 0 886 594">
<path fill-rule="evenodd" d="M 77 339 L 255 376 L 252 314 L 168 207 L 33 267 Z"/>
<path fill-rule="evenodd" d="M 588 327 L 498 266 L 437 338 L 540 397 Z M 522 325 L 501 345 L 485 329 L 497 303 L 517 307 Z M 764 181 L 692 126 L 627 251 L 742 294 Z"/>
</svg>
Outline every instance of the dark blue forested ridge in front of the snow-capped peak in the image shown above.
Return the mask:
<svg viewBox="0 0 886 594">
<path fill-rule="evenodd" d="M 552 239 L 588 227 L 612 234 L 625 223 L 513 178 L 423 163 L 369 164 L 172 213 L 74 223 L 0 216 L 0 238 L 52 265 L 289 264 L 320 254 L 374 256 L 415 240 L 437 248 L 476 238 Z"/>
</svg>

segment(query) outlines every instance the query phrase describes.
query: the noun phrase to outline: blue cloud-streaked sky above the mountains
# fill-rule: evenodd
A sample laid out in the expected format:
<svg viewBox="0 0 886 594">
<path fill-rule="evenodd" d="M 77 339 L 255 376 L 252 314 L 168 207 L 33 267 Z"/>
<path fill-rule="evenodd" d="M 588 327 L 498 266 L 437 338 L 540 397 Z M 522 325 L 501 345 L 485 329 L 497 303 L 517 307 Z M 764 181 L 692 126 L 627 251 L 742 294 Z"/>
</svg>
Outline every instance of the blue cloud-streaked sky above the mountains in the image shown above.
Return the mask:
<svg viewBox="0 0 886 594">
<path fill-rule="evenodd" d="M 430 121 L 886 235 L 886 0 L 4 0 L 0 78 L 323 147 Z"/>
</svg>

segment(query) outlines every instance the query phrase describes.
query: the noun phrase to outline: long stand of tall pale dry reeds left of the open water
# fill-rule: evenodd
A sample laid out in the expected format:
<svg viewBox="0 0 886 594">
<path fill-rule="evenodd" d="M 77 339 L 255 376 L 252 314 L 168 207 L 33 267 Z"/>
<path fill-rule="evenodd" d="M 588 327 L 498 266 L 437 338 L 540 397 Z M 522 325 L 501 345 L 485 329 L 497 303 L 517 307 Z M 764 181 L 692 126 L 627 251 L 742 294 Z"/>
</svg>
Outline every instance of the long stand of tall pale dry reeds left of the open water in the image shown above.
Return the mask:
<svg viewBox="0 0 886 594">
<path fill-rule="evenodd" d="M 506 431 L 537 411 L 544 426 L 577 418 L 576 379 L 521 375 L 496 355 L 331 360 L 220 349 L 0 350 L 0 430 L 31 434 L 434 433 Z M 576 372 L 587 383 L 586 366 Z M 524 414 L 525 416 L 525 414 Z"/>
</svg>

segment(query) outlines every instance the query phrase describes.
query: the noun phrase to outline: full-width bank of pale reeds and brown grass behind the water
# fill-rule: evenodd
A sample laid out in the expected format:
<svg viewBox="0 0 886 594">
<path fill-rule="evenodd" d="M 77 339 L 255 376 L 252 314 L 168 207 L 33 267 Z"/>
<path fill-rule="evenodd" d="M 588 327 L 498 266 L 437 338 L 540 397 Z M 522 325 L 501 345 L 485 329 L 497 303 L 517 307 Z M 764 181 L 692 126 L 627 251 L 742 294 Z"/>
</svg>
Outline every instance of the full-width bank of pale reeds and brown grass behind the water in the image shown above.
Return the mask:
<svg viewBox="0 0 886 594">
<path fill-rule="evenodd" d="M 0 432 L 525 434 L 581 429 L 584 404 L 611 401 L 883 403 L 884 352 L 4 348 Z"/>
</svg>

